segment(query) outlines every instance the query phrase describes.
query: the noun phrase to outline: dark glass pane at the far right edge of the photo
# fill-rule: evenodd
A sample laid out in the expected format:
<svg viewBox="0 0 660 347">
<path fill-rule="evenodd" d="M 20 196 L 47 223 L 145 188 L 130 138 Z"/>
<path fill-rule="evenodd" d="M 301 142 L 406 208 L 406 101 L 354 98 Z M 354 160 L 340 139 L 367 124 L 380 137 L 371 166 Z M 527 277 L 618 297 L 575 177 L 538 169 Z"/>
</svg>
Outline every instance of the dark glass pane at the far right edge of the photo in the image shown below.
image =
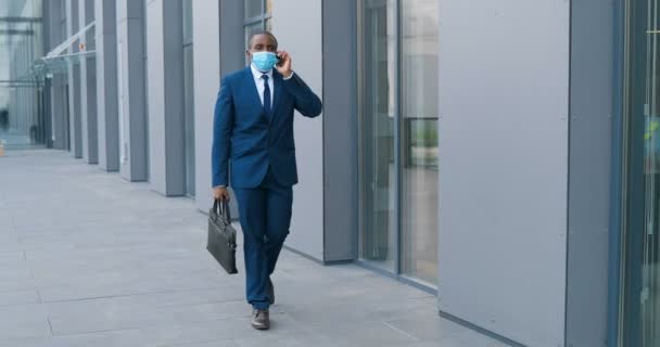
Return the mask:
<svg viewBox="0 0 660 347">
<path fill-rule="evenodd" d="M 660 346 L 660 9 L 630 1 L 623 346 Z"/>
</svg>

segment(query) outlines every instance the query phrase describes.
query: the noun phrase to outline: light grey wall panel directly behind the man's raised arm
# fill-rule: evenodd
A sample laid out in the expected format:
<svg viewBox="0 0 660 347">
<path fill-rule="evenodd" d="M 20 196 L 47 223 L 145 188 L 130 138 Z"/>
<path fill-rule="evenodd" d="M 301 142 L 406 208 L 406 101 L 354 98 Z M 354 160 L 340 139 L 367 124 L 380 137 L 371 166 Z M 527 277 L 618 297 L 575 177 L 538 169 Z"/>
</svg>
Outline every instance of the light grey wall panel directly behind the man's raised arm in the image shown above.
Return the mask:
<svg viewBox="0 0 660 347">
<path fill-rule="evenodd" d="M 304 13 L 305 15 L 301 15 Z M 321 0 L 274 2 L 272 29 L 293 69 L 322 95 Z M 295 23 L 295 25 L 290 25 Z M 301 33 L 304 28 L 304 33 Z M 296 113 L 294 121 L 300 183 L 294 187 L 293 218 L 287 245 L 323 259 L 323 126 Z"/>
</svg>

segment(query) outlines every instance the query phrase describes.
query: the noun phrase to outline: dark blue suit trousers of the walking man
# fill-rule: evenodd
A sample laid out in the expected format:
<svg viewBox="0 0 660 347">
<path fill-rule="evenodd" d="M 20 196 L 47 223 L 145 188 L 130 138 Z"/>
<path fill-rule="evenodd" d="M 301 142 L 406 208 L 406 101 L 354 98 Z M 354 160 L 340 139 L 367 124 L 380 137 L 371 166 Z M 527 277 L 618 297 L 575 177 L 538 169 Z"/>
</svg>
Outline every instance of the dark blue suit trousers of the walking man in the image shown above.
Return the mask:
<svg viewBox="0 0 660 347">
<path fill-rule="evenodd" d="M 291 226 L 293 189 L 279 185 L 268 168 L 258 187 L 234 193 L 243 230 L 245 296 L 253 308 L 267 309 L 268 282 Z"/>
</svg>

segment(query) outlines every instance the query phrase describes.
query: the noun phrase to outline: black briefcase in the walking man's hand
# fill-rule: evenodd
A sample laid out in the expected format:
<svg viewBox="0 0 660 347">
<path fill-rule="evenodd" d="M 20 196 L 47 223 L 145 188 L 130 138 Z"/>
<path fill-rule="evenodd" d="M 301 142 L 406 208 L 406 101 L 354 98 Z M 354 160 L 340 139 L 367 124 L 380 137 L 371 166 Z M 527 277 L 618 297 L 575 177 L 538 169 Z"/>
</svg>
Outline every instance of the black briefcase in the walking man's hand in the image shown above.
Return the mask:
<svg viewBox="0 0 660 347">
<path fill-rule="evenodd" d="M 236 229 L 231 227 L 229 204 L 215 201 L 208 213 L 208 253 L 223 266 L 227 273 L 238 273 L 236 268 Z"/>
</svg>

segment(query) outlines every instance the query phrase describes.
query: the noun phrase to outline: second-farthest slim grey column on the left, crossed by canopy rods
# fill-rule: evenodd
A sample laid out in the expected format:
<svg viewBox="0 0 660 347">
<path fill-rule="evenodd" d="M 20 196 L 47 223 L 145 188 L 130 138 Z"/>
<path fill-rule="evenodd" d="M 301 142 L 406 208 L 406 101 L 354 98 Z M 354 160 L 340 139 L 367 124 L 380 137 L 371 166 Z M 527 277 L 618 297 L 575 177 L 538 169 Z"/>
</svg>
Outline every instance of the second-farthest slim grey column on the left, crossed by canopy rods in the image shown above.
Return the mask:
<svg viewBox="0 0 660 347">
<path fill-rule="evenodd" d="M 78 0 L 80 28 L 94 20 L 93 0 Z M 81 52 L 91 50 L 88 42 L 93 39 L 96 28 L 80 38 Z M 97 125 L 97 63 L 93 56 L 80 60 L 80 114 L 82 128 L 82 158 L 88 164 L 99 163 L 99 137 Z"/>
</svg>

